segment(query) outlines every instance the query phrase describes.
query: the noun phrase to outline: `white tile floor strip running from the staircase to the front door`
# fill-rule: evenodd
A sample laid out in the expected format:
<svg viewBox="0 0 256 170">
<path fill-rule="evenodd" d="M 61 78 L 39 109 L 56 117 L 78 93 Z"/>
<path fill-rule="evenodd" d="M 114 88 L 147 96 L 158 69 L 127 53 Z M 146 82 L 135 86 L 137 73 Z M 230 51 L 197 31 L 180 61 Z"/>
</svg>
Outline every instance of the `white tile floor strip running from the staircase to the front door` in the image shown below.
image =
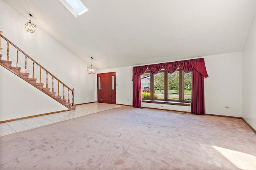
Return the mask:
<svg viewBox="0 0 256 170">
<path fill-rule="evenodd" d="M 10 121 L 7 123 L 0 123 L 0 136 L 9 135 L 20 131 L 26 131 L 36 127 L 49 125 L 59 121 L 73 119 L 100 111 L 113 109 L 122 105 L 104 104 L 104 103 L 90 103 L 76 106 L 75 110 L 54 113 L 50 115 L 32 117 L 28 119 L 21 119 Z"/>
</svg>

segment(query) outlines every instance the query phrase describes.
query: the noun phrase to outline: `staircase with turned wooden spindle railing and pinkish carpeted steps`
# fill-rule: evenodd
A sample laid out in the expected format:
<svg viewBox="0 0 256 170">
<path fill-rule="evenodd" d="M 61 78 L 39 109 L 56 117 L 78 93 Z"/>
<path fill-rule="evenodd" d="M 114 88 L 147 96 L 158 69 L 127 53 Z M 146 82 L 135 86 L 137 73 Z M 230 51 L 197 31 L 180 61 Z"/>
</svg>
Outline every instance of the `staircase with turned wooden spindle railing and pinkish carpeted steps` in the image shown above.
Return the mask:
<svg viewBox="0 0 256 170">
<path fill-rule="evenodd" d="M 54 100 L 58 101 L 60 104 L 68 107 L 69 109 L 75 109 L 76 106 L 74 106 L 74 88 L 71 89 L 68 86 L 66 86 L 66 84 L 64 84 L 62 81 L 60 81 L 58 78 L 56 78 L 52 73 L 50 73 L 48 70 L 46 70 L 46 68 L 44 68 L 42 65 L 40 65 L 39 63 L 37 63 L 34 59 L 32 59 L 29 55 L 27 55 L 26 53 L 24 53 L 24 51 L 22 51 L 20 48 L 18 48 L 16 45 L 14 45 L 14 43 L 12 43 L 11 41 L 9 41 L 6 37 L 4 37 L 1 34 L 0 31 L 0 49 L 1 49 L 1 37 L 7 42 L 7 56 L 6 56 L 6 60 L 2 60 L 2 55 L 0 54 L 0 65 L 4 66 L 6 69 L 10 70 L 11 72 L 13 72 L 14 74 L 16 74 L 17 76 L 19 76 L 20 78 L 22 78 L 23 80 L 25 80 L 26 82 L 30 83 L 32 86 L 35 86 L 36 88 L 38 88 L 39 90 L 41 90 L 42 92 L 44 92 L 45 94 L 47 94 L 48 96 L 50 96 L 51 98 L 53 98 Z M 9 61 L 9 49 L 10 49 L 10 45 L 12 45 L 12 48 L 14 47 L 16 49 L 16 67 L 12 66 L 12 61 Z M 21 52 L 22 54 L 24 54 L 24 72 L 20 72 L 20 70 L 22 69 L 22 67 L 18 67 L 19 65 L 19 52 Z M 30 73 L 27 73 L 28 70 L 28 59 L 30 59 L 30 63 L 33 64 L 33 67 L 30 68 L 31 72 L 32 72 L 32 78 L 28 78 L 28 76 L 30 75 Z M 37 74 L 38 78 L 39 78 L 39 83 L 36 83 L 36 80 L 38 78 L 35 78 L 35 66 L 37 66 L 39 68 L 39 73 Z M 42 74 L 45 74 L 45 79 L 42 78 Z M 52 82 L 52 90 L 51 88 L 48 88 L 48 78 L 51 80 Z M 46 87 L 44 87 L 44 84 L 42 83 L 42 80 L 44 80 L 44 82 L 46 82 Z M 56 84 L 54 84 L 54 81 L 58 83 L 58 95 L 56 95 L 57 93 L 54 92 L 54 86 L 55 88 L 57 87 Z M 60 91 L 60 88 L 62 88 L 62 90 Z M 72 101 L 70 99 L 70 92 L 72 93 Z M 60 94 L 62 94 L 62 96 L 60 96 Z M 65 99 L 65 94 L 68 96 L 68 99 Z M 71 103 L 72 102 L 72 103 Z"/>
</svg>

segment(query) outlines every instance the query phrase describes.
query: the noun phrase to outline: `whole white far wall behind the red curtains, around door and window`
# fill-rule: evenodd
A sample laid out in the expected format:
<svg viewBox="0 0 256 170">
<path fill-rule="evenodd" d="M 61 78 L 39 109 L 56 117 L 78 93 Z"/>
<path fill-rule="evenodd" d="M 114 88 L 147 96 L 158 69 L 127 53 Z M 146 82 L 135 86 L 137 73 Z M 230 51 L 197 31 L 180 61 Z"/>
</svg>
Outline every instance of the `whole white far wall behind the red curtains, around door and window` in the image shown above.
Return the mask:
<svg viewBox="0 0 256 170">
<path fill-rule="evenodd" d="M 209 75 L 204 79 L 206 113 L 242 117 L 242 52 L 205 56 L 204 60 Z M 116 103 L 132 106 L 132 66 L 98 71 L 104 72 L 116 72 Z M 142 103 L 142 107 L 190 111 L 189 106 L 166 104 Z"/>
</svg>

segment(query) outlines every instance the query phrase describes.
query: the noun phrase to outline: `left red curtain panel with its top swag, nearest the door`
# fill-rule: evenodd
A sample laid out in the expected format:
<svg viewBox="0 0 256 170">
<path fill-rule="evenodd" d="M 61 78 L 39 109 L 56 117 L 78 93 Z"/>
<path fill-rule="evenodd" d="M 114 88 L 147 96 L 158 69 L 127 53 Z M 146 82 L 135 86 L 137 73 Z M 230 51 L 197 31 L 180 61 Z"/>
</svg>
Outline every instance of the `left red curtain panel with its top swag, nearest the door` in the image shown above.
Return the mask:
<svg viewBox="0 0 256 170">
<path fill-rule="evenodd" d="M 147 70 L 148 66 L 138 66 L 132 68 L 132 91 L 133 91 L 133 100 L 132 106 L 133 107 L 140 107 L 141 106 L 141 78 L 140 76 L 144 74 Z"/>
</svg>

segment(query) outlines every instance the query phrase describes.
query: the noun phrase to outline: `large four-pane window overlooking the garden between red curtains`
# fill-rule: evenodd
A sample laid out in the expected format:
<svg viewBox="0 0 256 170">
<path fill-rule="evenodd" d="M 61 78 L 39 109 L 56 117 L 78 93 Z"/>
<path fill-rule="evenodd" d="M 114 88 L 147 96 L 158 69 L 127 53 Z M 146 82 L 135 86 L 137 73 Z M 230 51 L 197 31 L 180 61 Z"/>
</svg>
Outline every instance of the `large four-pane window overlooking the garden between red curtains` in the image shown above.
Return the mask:
<svg viewBox="0 0 256 170">
<path fill-rule="evenodd" d="M 162 69 L 155 75 L 147 70 L 141 76 L 141 88 L 143 102 L 190 103 L 192 74 L 181 68 L 172 74 Z"/>
</svg>

